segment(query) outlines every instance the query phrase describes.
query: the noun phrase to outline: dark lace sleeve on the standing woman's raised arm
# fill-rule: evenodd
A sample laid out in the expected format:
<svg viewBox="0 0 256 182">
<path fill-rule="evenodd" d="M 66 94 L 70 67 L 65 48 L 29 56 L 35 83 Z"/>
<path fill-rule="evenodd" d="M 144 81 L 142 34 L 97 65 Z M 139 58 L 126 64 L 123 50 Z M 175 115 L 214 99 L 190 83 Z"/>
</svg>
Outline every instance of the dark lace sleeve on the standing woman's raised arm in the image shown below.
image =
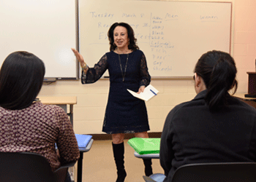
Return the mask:
<svg viewBox="0 0 256 182">
<path fill-rule="evenodd" d="M 97 82 L 97 80 L 100 79 L 100 77 L 105 73 L 107 69 L 108 57 L 107 55 L 103 55 L 102 58 L 100 58 L 99 62 L 94 65 L 94 68 L 89 68 L 86 74 L 82 71 L 82 84 L 92 84 L 94 82 Z"/>
</svg>

